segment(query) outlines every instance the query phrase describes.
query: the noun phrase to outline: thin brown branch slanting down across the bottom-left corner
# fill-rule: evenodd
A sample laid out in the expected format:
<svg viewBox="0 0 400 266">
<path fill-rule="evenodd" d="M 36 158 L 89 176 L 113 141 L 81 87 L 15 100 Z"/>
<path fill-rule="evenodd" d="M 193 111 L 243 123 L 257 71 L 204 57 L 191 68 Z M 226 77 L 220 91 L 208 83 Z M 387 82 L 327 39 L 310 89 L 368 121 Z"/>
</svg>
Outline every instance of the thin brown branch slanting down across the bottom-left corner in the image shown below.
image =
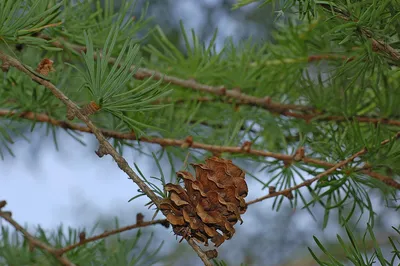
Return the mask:
<svg viewBox="0 0 400 266">
<path fill-rule="evenodd" d="M 2 205 L 4 207 L 6 205 L 6 201 L 4 201 L 4 200 L 0 201 L 0 205 Z M 29 242 L 31 249 L 39 248 L 41 250 L 45 250 L 46 252 L 52 254 L 62 265 L 75 266 L 75 264 L 73 264 L 71 261 L 69 261 L 65 255 L 58 254 L 57 249 L 47 245 L 46 243 L 43 243 L 39 239 L 32 236 L 27 230 L 25 230 L 19 223 L 17 223 L 11 217 L 11 212 L 1 211 L 1 208 L 0 208 L 0 217 L 3 218 L 4 220 L 6 220 L 8 223 L 10 223 L 15 228 L 15 230 L 22 233 L 24 238 Z"/>
</svg>

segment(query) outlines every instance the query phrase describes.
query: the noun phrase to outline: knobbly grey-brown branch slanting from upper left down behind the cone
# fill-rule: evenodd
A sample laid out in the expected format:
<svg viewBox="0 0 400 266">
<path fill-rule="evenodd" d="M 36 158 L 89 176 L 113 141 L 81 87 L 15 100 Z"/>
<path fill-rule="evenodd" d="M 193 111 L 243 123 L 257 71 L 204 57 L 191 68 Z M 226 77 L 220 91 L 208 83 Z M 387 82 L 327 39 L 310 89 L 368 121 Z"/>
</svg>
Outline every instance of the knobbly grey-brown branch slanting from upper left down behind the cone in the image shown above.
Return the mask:
<svg viewBox="0 0 400 266">
<path fill-rule="evenodd" d="M 20 63 L 17 59 L 4 54 L 0 51 L 0 59 L 10 66 L 15 67 L 19 71 L 28 75 L 32 80 L 38 82 L 43 85 L 47 89 L 49 89 L 55 97 L 61 100 L 67 107 L 67 117 L 73 118 L 76 116 L 80 120 L 82 120 L 91 132 L 96 136 L 99 142 L 99 149 L 96 154 L 99 157 L 102 157 L 106 154 L 109 154 L 113 157 L 113 159 L 118 164 L 119 168 L 124 171 L 129 178 L 135 182 L 139 188 L 151 199 L 151 201 L 159 207 L 159 197 L 144 183 L 140 177 L 132 170 L 129 166 L 128 162 L 125 160 L 123 156 L 121 156 L 114 147 L 107 141 L 107 139 L 103 136 L 101 131 L 93 124 L 93 122 L 84 114 L 82 114 L 79 106 L 77 106 L 74 102 L 72 102 L 64 93 L 62 93 L 56 86 L 54 86 L 51 82 L 35 75 L 32 71 L 28 70 L 22 63 Z M 202 257 L 206 256 L 201 249 L 194 249 L 198 256 L 203 260 Z"/>
</svg>

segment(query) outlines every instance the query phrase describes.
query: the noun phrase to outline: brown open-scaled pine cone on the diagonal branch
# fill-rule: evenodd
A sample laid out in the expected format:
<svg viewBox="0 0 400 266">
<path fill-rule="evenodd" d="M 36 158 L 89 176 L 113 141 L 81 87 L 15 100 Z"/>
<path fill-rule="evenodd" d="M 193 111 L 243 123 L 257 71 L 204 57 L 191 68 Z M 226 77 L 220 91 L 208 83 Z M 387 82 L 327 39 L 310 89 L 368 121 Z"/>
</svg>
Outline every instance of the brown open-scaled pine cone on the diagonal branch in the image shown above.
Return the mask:
<svg viewBox="0 0 400 266">
<path fill-rule="evenodd" d="M 233 236 L 233 225 L 238 220 L 243 222 L 240 214 L 246 211 L 244 198 L 248 191 L 245 173 L 232 161 L 218 157 L 207 159 L 206 164 L 192 166 L 196 178 L 187 171 L 177 172 L 185 189 L 166 184 L 170 197 L 162 200 L 160 209 L 175 234 L 205 245 L 211 239 L 218 247 Z"/>
</svg>

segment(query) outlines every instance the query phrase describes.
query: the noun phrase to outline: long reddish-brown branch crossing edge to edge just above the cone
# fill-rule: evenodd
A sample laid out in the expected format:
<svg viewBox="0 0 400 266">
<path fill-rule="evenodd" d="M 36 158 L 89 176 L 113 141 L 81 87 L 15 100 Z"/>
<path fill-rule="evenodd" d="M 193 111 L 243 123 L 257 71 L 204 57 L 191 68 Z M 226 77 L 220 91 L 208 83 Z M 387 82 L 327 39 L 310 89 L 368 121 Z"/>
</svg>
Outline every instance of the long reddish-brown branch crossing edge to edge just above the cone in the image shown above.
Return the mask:
<svg viewBox="0 0 400 266">
<path fill-rule="evenodd" d="M 84 133 L 92 133 L 92 131 L 89 127 L 86 127 L 86 126 L 83 126 L 83 125 L 80 125 L 77 123 L 71 123 L 71 122 L 64 121 L 64 120 L 57 120 L 57 119 L 54 119 L 54 118 L 52 118 L 46 114 L 42 114 L 42 113 L 17 112 L 17 111 L 8 110 L 8 109 L 0 109 L 0 116 L 19 117 L 19 118 L 42 122 L 42 123 L 49 123 L 53 126 L 57 126 L 57 127 L 64 128 L 64 129 L 70 129 L 70 130 L 84 132 Z M 101 128 L 99 130 L 105 137 L 121 139 L 121 140 L 138 140 L 137 136 L 134 133 L 123 133 L 123 132 L 118 132 L 118 131 L 109 130 L 109 129 L 101 129 Z M 399 137 L 400 137 L 400 133 L 398 133 L 396 135 L 396 138 L 399 138 Z M 287 164 L 291 164 L 294 161 L 301 161 L 305 164 L 317 165 L 317 166 L 323 167 L 323 168 L 331 168 L 331 167 L 335 166 L 335 164 L 333 164 L 333 163 L 329 163 L 329 162 L 311 158 L 311 157 L 302 156 L 301 158 L 299 158 L 300 160 L 298 160 L 293 155 L 273 153 L 273 152 L 256 150 L 256 149 L 244 149 L 243 147 L 237 147 L 237 146 L 210 145 L 210 144 L 195 142 L 195 141 L 190 141 L 190 143 L 187 143 L 186 139 L 178 140 L 178 139 L 170 139 L 170 138 L 140 137 L 139 140 L 142 142 L 146 142 L 146 143 L 158 144 L 161 147 L 167 147 L 167 146 L 190 147 L 192 149 L 201 149 L 201 150 L 206 150 L 206 151 L 209 151 L 212 153 L 232 153 L 232 154 L 236 153 L 236 154 L 249 154 L 249 155 L 254 155 L 254 156 L 270 157 L 270 158 L 284 161 Z M 390 141 L 389 139 L 384 140 L 381 143 L 381 145 L 385 145 L 389 141 Z M 363 174 L 369 175 L 372 178 L 380 180 L 381 182 L 385 183 L 388 186 L 391 186 L 396 189 L 400 189 L 400 183 L 396 182 L 396 180 L 394 180 L 393 178 L 373 172 L 368 165 L 365 165 L 361 168 L 357 168 L 356 170 L 362 172 Z"/>
</svg>

